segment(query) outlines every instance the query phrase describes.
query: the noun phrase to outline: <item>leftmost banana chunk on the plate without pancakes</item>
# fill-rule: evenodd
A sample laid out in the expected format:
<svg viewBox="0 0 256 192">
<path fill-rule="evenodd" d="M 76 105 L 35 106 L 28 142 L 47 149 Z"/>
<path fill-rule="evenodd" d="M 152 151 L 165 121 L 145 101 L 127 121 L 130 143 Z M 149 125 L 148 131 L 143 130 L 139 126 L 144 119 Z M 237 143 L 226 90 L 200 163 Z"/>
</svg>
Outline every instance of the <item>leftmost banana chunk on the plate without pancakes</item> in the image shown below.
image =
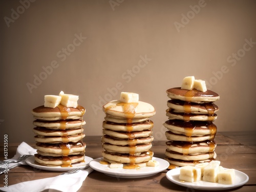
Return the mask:
<svg viewBox="0 0 256 192">
<path fill-rule="evenodd" d="M 196 166 L 183 166 L 180 168 L 179 179 L 182 181 L 196 182 L 201 180 L 201 168 Z"/>
</svg>

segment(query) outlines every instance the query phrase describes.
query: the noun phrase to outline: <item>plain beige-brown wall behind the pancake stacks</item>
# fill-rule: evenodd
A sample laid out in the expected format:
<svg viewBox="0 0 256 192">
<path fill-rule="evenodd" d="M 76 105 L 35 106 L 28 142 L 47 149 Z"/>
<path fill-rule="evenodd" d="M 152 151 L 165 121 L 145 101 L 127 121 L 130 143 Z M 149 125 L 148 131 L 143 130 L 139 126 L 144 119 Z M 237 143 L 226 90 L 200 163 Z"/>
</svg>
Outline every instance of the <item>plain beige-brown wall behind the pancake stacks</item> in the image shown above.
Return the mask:
<svg viewBox="0 0 256 192">
<path fill-rule="evenodd" d="M 87 136 L 101 135 L 104 102 L 139 93 L 165 140 L 165 91 L 188 75 L 219 93 L 219 132 L 255 130 L 256 1 L 21 0 L 0 10 L 0 133 L 9 142 L 33 142 L 30 111 L 61 90 L 87 109 Z"/>
</svg>

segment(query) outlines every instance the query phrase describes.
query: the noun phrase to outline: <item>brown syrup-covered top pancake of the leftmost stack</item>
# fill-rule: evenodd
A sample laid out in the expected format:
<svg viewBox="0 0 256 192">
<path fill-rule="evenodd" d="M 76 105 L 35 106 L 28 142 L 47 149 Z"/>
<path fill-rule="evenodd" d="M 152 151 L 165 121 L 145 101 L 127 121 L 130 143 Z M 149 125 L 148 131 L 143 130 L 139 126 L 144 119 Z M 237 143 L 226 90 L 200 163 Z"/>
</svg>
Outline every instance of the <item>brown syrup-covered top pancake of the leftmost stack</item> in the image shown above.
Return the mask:
<svg viewBox="0 0 256 192">
<path fill-rule="evenodd" d="M 86 110 L 78 105 L 76 108 L 67 108 L 59 104 L 56 108 L 46 108 L 44 105 L 38 106 L 32 110 L 32 115 L 38 120 L 66 120 L 66 119 L 80 119 Z"/>
</svg>

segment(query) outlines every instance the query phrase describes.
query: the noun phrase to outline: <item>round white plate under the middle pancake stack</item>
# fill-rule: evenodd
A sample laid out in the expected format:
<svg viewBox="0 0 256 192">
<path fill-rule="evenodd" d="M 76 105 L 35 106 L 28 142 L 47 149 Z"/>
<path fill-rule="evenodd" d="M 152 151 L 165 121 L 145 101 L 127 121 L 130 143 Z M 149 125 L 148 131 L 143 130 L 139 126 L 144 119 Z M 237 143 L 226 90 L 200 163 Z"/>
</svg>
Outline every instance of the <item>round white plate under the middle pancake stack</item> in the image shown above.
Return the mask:
<svg viewBox="0 0 256 192">
<path fill-rule="evenodd" d="M 162 172 L 169 166 L 169 162 L 153 157 L 152 160 L 156 160 L 159 162 L 159 165 L 156 167 L 142 167 L 139 169 L 124 169 L 124 168 L 110 168 L 110 165 L 103 165 L 100 164 L 99 161 L 103 160 L 103 158 L 94 159 L 90 162 L 90 166 L 101 172 L 105 175 L 117 178 L 143 178 L 143 177 L 150 177 L 157 173 Z"/>
</svg>

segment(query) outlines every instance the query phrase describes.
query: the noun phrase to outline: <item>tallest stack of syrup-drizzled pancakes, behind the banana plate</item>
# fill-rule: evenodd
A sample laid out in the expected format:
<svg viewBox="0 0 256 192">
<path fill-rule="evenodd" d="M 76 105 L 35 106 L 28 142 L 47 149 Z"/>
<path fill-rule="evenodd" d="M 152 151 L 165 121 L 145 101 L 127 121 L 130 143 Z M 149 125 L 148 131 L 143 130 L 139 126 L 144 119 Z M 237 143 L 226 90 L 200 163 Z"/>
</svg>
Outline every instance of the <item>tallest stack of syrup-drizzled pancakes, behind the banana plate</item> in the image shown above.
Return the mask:
<svg viewBox="0 0 256 192">
<path fill-rule="evenodd" d="M 218 106 L 214 103 L 219 95 L 207 90 L 205 92 L 172 88 L 166 91 L 166 116 L 169 120 L 163 124 L 168 131 L 165 160 L 170 168 L 207 162 L 216 158 L 214 141 L 217 126 Z"/>
</svg>

